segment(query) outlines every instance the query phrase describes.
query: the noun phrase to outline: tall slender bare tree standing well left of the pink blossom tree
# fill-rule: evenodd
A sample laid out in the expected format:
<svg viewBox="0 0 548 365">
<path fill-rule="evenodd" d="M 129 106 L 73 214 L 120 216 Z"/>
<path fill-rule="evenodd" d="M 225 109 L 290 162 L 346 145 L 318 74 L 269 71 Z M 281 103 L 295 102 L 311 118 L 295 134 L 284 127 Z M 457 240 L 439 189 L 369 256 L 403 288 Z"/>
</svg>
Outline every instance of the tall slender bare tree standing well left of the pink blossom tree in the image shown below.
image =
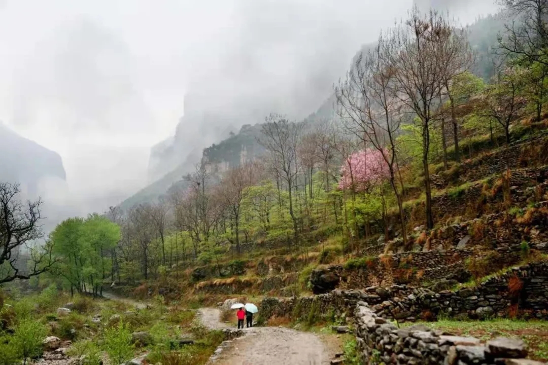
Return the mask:
<svg viewBox="0 0 548 365">
<path fill-rule="evenodd" d="M 294 242 L 298 244 L 298 218 L 293 204 L 293 188 L 297 175 L 297 146 L 302 131 L 302 124 L 297 124 L 282 117 L 271 114 L 262 125 L 262 137 L 259 142 L 271 154 L 274 169 L 288 186 L 289 215 L 293 220 Z"/>
</svg>

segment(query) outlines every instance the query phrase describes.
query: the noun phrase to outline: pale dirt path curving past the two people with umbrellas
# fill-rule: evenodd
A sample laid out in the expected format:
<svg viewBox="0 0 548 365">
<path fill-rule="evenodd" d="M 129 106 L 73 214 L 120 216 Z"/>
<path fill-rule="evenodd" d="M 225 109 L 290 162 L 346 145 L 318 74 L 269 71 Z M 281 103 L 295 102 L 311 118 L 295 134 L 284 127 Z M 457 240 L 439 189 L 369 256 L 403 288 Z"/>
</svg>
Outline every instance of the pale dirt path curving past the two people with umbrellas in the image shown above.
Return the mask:
<svg viewBox="0 0 548 365">
<path fill-rule="evenodd" d="M 202 323 L 212 329 L 229 328 L 219 322 L 219 309 L 199 310 Z M 327 346 L 315 334 L 283 327 L 253 327 L 232 341 L 214 361 L 223 365 L 324 365 L 329 364 Z"/>
</svg>

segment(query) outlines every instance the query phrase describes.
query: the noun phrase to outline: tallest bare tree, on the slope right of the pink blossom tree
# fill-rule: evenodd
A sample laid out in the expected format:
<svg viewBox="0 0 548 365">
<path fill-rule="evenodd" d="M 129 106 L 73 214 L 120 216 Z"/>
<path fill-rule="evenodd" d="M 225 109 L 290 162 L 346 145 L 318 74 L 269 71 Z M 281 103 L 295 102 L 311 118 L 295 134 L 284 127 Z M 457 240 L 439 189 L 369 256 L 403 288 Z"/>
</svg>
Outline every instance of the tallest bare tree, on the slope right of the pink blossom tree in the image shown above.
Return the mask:
<svg viewBox="0 0 548 365">
<path fill-rule="evenodd" d="M 426 225 L 433 228 L 429 173 L 430 131 L 439 112 L 439 94 L 454 65 L 443 53 L 454 27 L 436 11 L 426 16 L 415 7 L 409 19 L 387 34 L 386 54 L 395 69 L 393 95 L 402 108 L 416 115 L 422 135 L 422 160 L 426 193 Z"/>
</svg>

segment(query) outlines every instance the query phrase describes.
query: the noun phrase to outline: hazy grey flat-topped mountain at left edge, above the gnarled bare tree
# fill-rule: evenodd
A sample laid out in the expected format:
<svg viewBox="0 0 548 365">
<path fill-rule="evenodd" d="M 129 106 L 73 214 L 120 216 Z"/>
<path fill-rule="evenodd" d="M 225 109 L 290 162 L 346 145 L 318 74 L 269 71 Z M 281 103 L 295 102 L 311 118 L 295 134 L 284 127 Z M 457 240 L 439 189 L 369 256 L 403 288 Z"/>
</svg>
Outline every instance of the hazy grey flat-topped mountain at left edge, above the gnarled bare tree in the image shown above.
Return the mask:
<svg viewBox="0 0 548 365">
<path fill-rule="evenodd" d="M 65 180 L 61 157 L 21 137 L 0 122 L 0 181 L 20 183 L 28 196 L 36 196 L 41 179 Z"/>
</svg>

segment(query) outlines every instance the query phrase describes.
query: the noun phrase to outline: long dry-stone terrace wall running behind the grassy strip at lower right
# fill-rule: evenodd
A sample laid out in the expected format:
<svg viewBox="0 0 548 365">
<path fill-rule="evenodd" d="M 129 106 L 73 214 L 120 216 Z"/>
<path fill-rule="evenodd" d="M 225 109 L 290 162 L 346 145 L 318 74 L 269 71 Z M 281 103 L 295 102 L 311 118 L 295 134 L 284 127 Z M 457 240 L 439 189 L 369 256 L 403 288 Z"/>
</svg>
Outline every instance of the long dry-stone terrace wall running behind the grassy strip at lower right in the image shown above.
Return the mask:
<svg viewBox="0 0 548 365">
<path fill-rule="evenodd" d="M 399 322 L 433 320 L 440 314 L 457 319 L 510 315 L 548 319 L 548 263 L 513 268 L 476 287 L 455 291 L 436 293 L 423 287 L 393 285 L 364 291 L 335 289 L 312 297 L 265 298 L 260 312 L 265 320 L 272 316 L 297 320 L 311 312 L 346 319 L 352 317 L 360 301 L 369 303 L 376 315 Z"/>
</svg>

